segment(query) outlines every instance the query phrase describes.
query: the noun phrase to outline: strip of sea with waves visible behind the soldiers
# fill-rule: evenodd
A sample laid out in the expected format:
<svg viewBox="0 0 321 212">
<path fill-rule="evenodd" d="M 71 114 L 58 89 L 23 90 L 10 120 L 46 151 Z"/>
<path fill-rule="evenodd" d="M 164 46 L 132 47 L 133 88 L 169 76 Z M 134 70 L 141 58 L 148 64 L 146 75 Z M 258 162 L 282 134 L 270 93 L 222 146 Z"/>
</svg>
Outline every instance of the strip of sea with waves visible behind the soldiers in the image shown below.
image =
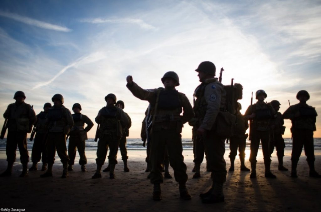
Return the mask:
<svg viewBox="0 0 321 212">
<path fill-rule="evenodd" d="M 67 140 L 67 147 L 68 147 Z M 292 149 L 292 140 L 291 138 L 285 138 L 285 149 Z M 193 142 L 192 139 L 182 139 L 183 149 L 193 149 Z M 5 150 L 6 145 L 6 138 L 0 140 L 0 150 Z M 29 138 L 27 139 L 27 148 L 28 150 L 32 149 L 33 141 L 30 141 Z M 229 143 L 225 142 L 225 149 L 229 150 L 230 146 Z M 247 140 L 246 142 L 246 149 L 250 148 L 250 141 Z M 261 145 L 260 147 L 261 148 Z M 314 148 L 317 150 L 321 149 L 321 138 L 314 138 Z M 143 141 L 141 139 L 127 139 L 127 150 L 144 150 L 146 147 L 143 147 Z M 96 151 L 97 150 L 97 142 L 94 139 L 86 140 L 86 151 Z"/>
</svg>

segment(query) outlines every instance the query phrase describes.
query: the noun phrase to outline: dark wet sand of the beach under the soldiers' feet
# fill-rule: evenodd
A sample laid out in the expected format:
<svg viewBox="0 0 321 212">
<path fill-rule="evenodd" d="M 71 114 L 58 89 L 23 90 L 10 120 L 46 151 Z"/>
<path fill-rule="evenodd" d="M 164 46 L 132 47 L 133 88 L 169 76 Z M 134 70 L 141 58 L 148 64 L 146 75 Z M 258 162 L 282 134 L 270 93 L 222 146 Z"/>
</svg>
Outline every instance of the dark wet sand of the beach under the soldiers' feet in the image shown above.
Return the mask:
<svg viewBox="0 0 321 212">
<path fill-rule="evenodd" d="M 315 153 L 316 170 L 321 173 L 321 151 Z M 109 179 L 109 173 L 102 173 L 100 179 L 91 179 L 96 169 L 96 152 L 86 151 L 86 155 L 86 173 L 82 173 L 80 165 L 75 164 L 69 177 L 61 179 L 62 164 L 56 157 L 53 177 L 40 178 L 42 171 L 30 171 L 28 177 L 20 178 L 22 166 L 17 151 L 12 176 L 0 178 L 0 208 L 22 208 L 25 211 L 319 211 L 321 208 L 321 179 L 308 177 L 309 169 L 304 155 L 298 164 L 299 178 L 291 178 L 290 171 L 277 170 L 274 152 L 271 170 L 277 179 L 264 177 L 262 151 L 258 155 L 256 179 L 250 179 L 249 172 L 239 171 L 237 156 L 235 171 L 228 172 L 224 184 L 225 202 L 209 205 L 202 204 L 198 195 L 210 188 L 211 173 L 206 172 L 203 163 L 202 177 L 192 179 L 192 150 L 183 151 L 191 200 L 179 198 L 178 183 L 174 179 L 164 179 L 161 185 L 163 200 L 152 200 L 152 184 L 147 179 L 148 173 L 145 173 L 145 151 L 128 152 L 130 172 L 127 173 L 123 172 L 123 162 L 118 158 L 116 179 Z M 225 153 L 227 169 L 230 167 L 228 155 L 229 151 Z M 286 150 L 285 155 L 284 166 L 290 169 L 291 151 Z M 5 158 L 5 151 L 0 151 L 0 172 L 6 168 Z M 78 159 L 77 156 L 75 161 Z M 250 168 L 248 158 L 246 165 Z M 39 166 L 41 168 L 41 163 Z M 169 172 L 174 176 L 171 167 Z"/>
</svg>

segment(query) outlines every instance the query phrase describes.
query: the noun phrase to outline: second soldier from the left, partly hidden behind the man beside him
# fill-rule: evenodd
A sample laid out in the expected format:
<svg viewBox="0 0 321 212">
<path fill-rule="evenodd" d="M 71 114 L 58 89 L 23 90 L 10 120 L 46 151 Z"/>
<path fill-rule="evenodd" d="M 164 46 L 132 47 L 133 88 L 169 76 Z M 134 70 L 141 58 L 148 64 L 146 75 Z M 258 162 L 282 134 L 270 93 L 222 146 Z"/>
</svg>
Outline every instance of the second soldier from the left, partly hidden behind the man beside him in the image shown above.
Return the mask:
<svg viewBox="0 0 321 212">
<path fill-rule="evenodd" d="M 31 153 L 31 161 L 32 166 L 29 168 L 29 171 L 37 170 L 37 163 L 40 161 L 42 162 L 41 171 L 47 170 L 47 156 L 46 156 L 46 133 L 48 131 L 46 126 L 46 115 L 48 114 L 48 110 L 50 109 L 51 104 L 47 102 L 43 106 L 43 110 L 37 115 L 37 122 L 34 124 L 36 127 L 36 135 L 35 140 L 32 146 L 32 153 Z M 42 157 L 41 157 L 42 153 Z"/>
</svg>

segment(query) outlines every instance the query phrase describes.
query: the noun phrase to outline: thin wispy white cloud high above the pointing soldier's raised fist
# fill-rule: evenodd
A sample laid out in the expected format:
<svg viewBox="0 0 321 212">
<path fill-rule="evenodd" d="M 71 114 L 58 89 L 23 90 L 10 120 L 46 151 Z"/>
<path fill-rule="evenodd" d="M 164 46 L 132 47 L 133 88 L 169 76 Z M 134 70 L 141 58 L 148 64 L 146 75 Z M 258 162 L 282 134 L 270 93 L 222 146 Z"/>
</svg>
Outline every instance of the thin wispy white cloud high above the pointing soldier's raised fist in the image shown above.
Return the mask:
<svg viewBox="0 0 321 212">
<path fill-rule="evenodd" d="M 83 20 L 81 20 L 81 22 L 93 23 L 93 24 L 99 24 L 99 23 L 131 23 L 131 24 L 137 24 L 142 29 L 145 29 L 145 30 L 157 30 L 156 27 L 146 23 L 142 19 L 134 19 L 134 18 L 122 18 L 122 19 L 94 18 L 94 19 L 83 19 Z"/>
</svg>

